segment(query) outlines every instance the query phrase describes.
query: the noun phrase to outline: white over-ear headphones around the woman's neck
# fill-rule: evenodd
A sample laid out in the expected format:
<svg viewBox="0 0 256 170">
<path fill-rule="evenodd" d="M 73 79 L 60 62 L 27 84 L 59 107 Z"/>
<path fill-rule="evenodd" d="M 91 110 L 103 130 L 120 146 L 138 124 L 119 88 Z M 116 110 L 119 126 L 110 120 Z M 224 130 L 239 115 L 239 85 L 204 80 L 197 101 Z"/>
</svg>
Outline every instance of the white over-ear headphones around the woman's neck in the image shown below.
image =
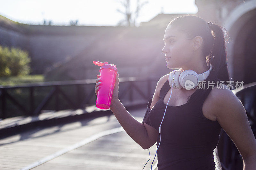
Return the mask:
<svg viewBox="0 0 256 170">
<path fill-rule="evenodd" d="M 209 67 L 209 63 L 207 63 Z M 212 70 L 212 64 L 210 64 L 210 69 Z M 185 88 L 186 90 L 191 90 L 196 88 L 198 81 L 204 81 L 210 75 L 210 69 L 201 73 L 197 74 L 193 70 L 173 70 L 169 74 L 169 85 L 174 89 L 181 89 Z"/>
</svg>

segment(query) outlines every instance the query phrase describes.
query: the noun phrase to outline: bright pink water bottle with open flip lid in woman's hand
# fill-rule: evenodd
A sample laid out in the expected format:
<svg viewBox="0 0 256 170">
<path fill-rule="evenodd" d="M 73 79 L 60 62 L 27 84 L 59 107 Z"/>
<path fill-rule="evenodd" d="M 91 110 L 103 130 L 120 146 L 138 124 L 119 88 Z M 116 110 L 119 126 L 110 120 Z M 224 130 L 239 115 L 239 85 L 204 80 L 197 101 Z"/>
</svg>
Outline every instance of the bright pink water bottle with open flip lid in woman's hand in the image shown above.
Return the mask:
<svg viewBox="0 0 256 170">
<path fill-rule="evenodd" d="M 109 109 L 116 82 L 116 65 L 108 64 L 108 62 L 101 63 L 99 61 L 93 61 L 92 63 L 100 66 L 100 82 L 102 82 L 97 94 L 96 107 Z"/>
</svg>

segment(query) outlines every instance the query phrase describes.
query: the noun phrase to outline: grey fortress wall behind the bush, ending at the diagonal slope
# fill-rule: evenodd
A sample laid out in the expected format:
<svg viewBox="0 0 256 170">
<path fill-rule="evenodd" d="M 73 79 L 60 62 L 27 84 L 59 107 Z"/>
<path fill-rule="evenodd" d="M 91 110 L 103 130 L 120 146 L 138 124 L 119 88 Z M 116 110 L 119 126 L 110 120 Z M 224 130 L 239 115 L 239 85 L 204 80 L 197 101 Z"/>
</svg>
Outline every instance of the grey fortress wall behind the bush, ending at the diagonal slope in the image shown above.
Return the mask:
<svg viewBox="0 0 256 170">
<path fill-rule="evenodd" d="M 23 28 L 24 27 L 24 28 Z M 15 28 L 15 29 L 14 29 Z M 100 36 L 120 28 L 105 26 L 34 26 L 0 23 L 0 44 L 29 52 L 31 74 L 42 74 L 78 55 Z M 121 28 L 122 29 L 122 28 Z"/>
</svg>

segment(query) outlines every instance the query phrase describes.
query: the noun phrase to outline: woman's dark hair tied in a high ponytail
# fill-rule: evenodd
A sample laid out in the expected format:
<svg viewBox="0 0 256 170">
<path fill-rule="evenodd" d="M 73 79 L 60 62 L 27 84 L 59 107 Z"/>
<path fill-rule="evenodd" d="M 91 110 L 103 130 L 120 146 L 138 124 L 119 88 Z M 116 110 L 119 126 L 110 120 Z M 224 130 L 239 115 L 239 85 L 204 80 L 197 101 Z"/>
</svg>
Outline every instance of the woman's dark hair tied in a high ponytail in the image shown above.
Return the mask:
<svg viewBox="0 0 256 170">
<path fill-rule="evenodd" d="M 167 26 L 179 27 L 179 30 L 186 35 L 188 40 L 192 40 L 196 36 L 201 36 L 203 39 L 202 52 L 206 59 L 206 63 L 212 64 L 212 70 L 210 70 L 210 75 L 205 80 L 205 89 L 197 89 L 192 95 L 189 96 L 188 101 L 191 97 L 195 99 L 206 98 L 210 93 L 212 87 L 208 84 L 224 81 L 226 85 L 230 81 L 228 68 L 227 68 L 227 54 L 226 54 L 226 41 L 223 27 L 216 24 L 210 24 L 200 17 L 193 15 L 181 16 L 174 18 Z M 226 30 L 225 28 L 223 28 Z M 225 35 L 228 35 L 226 30 Z M 197 87 L 196 87 L 197 88 Z"/>
</svg>

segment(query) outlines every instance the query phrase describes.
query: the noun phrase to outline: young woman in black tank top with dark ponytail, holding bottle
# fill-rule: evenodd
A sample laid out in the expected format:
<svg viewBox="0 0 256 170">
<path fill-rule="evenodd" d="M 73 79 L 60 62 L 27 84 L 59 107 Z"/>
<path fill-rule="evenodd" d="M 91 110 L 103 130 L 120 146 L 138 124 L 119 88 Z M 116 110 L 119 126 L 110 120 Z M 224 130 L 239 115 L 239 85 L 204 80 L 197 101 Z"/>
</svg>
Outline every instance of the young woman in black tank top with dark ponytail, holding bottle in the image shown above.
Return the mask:
<svg viewBox="0 0 256 170">
<path fill-rule="evenodd" d="M 167 25 L 162 49 L 167 68 L 179 69 L 179 73 L 193 70 L 197 74 L 209 70 L 209 65 L 212 69 L 204 79 L 205 88 L 172 88 L 169 74 L 160 78 L 148 103 L 150 111 L 142 123 L 134 119 L 118 99 L 119 75 L 116 76 L 110 109 L 143 149 L 157 142 L 159 170 L 214 170 L 213 150 L 221 128 L 236 144 L 243 157 L 244 170 L 256 167 L 256 140 L 245 109 L 227 85 L 217 84 L 219 81 L 228 84 L 230 80 L 221 28 L 191 15 L 175 18 Z M 97 78 L 96 94 L 100 87 L 99 75 Z M 210 83 L 214 83 L 214 87 L 208 87 Z"/>
</svg>

